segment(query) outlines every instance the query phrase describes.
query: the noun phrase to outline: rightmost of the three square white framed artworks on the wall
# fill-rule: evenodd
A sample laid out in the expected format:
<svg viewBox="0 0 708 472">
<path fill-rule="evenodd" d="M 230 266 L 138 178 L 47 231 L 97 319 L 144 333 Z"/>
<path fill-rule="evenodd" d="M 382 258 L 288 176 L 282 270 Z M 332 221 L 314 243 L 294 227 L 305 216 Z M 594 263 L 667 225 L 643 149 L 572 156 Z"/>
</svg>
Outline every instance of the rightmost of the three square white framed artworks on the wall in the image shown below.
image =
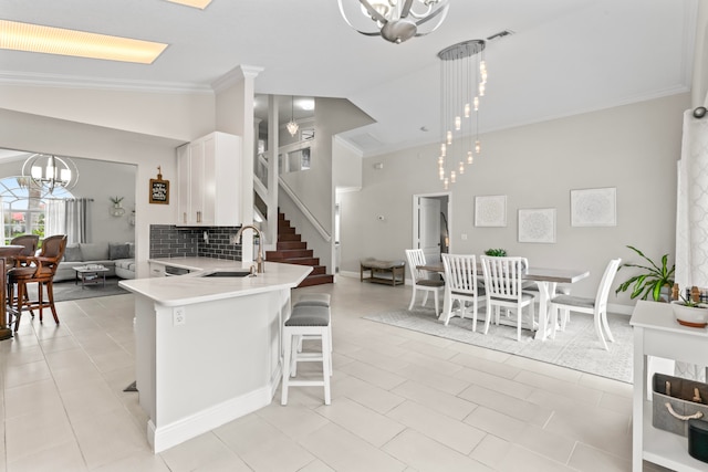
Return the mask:
<svg viewBox="0 0 708 472">
<path fill-rule="evenodd" d="M 571 227 L 616 227 L 615 187 L 571 190 Z"/>
</svg>

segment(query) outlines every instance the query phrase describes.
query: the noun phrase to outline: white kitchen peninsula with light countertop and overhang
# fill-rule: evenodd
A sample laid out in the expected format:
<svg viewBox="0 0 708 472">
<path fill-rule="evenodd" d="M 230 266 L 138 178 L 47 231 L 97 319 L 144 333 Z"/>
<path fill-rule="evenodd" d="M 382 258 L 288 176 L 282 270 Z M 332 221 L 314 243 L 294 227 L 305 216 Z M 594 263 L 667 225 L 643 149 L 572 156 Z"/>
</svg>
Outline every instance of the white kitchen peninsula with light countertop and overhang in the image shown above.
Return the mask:
<svg viewBox="0 0 708 472">
<path fill-rule="evenodd" d="M 125 280 L 135 294 L 136 387 L 155 453 L 269 405 L 281 378 L 281 326 L 305 265 L 210 258 L 149 260 L 188 272 Z M 221 272 L 221 273 L 219 273 Z"/>
</svg>

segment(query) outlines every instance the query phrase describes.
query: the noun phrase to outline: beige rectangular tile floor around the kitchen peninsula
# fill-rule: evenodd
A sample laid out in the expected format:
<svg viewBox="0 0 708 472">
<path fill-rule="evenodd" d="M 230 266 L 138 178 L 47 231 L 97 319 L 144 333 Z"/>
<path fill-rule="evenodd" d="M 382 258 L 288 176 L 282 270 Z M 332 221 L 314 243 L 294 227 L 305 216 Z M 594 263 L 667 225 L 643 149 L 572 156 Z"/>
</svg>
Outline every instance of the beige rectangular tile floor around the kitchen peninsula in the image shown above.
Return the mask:
<svg viewBox="0 0 708 472">
<path fill-rule="evenodd" d="M 407 306 L 406 286 L 340 277 L 298 292 L 323 291 L 331 406 L 321 388 L 292 389 L 287 407 L 278 392 L 157 455 L 123 391 L 132 295 L 62 302 L 59 327 L 23 317 L 0 343 L 0 472 L 631 470 L 629 385 L 362 319 Z"/>
</svg>

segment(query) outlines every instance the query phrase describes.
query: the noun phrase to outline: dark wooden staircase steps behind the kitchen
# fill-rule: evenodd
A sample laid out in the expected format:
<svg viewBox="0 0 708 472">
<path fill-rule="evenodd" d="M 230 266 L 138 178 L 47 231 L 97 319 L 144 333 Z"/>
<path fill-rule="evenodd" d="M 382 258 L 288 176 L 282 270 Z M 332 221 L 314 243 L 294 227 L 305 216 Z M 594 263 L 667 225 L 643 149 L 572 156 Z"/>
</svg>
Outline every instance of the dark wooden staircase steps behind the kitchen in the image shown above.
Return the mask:
<svg viewBox="0 0 708 472">
<path fill-rule="evenodd" d="M 313 251 L 308 249 L 308 243 L 301 241 L 300 234 L 285 220 L 285 214 L 278 212 L 278 243 L 275 251 L 266 251 L 266 260 L 282 262 L 284 264 L 312 265 L 313 270 L 303 280 L 300 286 L 321 285 L 333 283 L 334 276 L 327 274 L 327 268 L 320 265 L 320 259 L 313 256 Z"/>
</svg>

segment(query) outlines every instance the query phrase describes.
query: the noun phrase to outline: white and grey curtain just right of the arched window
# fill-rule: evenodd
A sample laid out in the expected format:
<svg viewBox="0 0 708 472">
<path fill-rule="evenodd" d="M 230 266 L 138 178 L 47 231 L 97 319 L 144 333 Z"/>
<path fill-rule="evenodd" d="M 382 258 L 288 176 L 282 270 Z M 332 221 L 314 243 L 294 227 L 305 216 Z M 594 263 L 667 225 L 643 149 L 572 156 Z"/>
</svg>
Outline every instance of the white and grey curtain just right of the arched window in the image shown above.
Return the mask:
<svg viewBox="0 0 708 472">
<path fill-rule="evenodd" d="M 66 234 L 69 244 L 87 242 L 90 207 L 93 200 L 49 200 L 44 210 L 44 234 Z"/>
</svg>

